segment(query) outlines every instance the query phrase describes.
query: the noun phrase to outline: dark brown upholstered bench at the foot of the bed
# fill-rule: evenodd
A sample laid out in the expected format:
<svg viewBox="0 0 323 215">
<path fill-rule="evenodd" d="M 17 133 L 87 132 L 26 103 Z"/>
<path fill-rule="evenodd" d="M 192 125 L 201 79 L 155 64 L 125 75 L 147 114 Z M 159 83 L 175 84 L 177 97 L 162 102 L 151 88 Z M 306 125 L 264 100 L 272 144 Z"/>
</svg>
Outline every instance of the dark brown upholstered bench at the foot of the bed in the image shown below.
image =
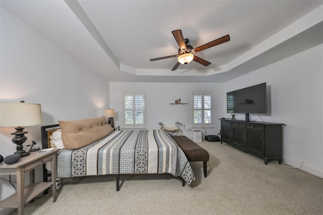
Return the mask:
<svg viewBox="0 0 323 215">
<path fill-rule="evenodd" d="M 172 136 L 172 138 L 184 151 L 189 162 L 203 162 L 204 177 L 206 178 L 208 152 L 190 140 L 187 136 Z"/>
</svg>

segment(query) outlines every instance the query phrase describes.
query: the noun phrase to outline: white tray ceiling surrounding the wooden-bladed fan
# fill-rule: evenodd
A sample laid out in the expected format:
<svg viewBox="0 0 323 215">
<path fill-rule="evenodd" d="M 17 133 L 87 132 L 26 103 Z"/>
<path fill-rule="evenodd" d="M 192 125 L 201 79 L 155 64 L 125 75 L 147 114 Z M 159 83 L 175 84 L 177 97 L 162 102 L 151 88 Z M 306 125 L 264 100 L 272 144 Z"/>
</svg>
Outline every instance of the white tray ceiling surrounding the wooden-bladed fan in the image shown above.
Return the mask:
<svg viewBox="0 0 323 215">
<path fill-rule="evenodd" d="M 1 7 L 110 81 L 223 82 L 323 42 L 323 1 L 1 1 Z M 181 29 L 209 61 L 171 69 Z"/>
</svg>

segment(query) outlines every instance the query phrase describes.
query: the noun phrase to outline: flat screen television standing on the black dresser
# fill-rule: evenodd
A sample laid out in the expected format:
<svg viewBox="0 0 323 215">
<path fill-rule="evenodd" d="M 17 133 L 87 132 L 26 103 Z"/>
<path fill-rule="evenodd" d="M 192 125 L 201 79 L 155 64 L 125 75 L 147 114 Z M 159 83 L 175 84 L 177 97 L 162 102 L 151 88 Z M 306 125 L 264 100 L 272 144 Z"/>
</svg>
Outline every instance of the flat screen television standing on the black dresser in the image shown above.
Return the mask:
<svg viewBox="0 0 323 215">
<path fill-rule="evenodd" d="M 249 114 L 266 114 L 266 83 L 227 92 L 227 113 L 245 114 L 245 121 Z"/>
</svg>

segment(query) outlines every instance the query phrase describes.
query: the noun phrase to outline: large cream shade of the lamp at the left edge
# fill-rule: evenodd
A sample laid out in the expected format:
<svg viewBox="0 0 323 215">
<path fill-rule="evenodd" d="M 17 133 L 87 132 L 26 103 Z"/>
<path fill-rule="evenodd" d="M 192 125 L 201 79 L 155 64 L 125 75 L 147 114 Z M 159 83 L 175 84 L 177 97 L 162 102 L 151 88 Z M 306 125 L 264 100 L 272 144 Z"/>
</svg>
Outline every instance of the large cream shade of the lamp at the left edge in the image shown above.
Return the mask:
<svg viewBox="0 0 323 215">
<path fill-rule="evenodd" d="M 40 104 L 0 102 L 0 127 L 42 124 Z"/>
</svg>

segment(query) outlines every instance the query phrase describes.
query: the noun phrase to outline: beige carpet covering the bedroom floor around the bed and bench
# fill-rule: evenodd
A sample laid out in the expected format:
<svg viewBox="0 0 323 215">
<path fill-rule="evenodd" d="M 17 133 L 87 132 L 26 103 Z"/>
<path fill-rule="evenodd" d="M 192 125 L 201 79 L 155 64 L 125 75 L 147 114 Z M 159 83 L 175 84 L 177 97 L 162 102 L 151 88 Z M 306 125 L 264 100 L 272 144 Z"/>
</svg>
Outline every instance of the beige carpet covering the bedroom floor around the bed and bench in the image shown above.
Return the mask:
<svg viewBox="0 0 323 215">
<path fill-rule="evenodd" d="M 182 186 L 171 175 L 83 177 L 25 206 L 25 214 L 323 214 L 323 179 L 263 160 L 226 143 L 198 143 L 210 155 L 192 163 L 195 181 Z M 65 185 L 64 185 L 65 184 Z M 12 214 L 17 214 L 17 210 Z"/>
</svg>

